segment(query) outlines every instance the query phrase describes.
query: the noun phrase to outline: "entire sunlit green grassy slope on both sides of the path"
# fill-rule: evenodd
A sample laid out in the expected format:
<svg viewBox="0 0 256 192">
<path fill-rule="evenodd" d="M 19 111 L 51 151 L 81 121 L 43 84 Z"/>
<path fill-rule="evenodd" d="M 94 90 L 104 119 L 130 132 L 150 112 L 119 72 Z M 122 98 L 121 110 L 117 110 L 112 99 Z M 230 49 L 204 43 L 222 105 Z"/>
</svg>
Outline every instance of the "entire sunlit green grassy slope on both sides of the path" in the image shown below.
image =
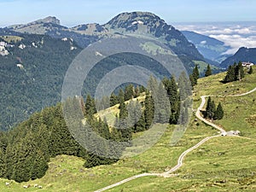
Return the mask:
<svg viewBox="0 0 256 192">
<path fill-rule="evenodd" d="M 199 80 L 195 87 L 194 108 L 201 103 L 201 95 L 230 95 L 252 90 L 256 86 L 256 68 L 253 75 L 247 75 L 241 82 L 219 83 L 218 80 L 223 78 L 224 73 Z M 224 100 L 218 98 L 222 99 L 225 117 L 217 123 L 227 130 L 241 130 L 243 135 L 252 139 L 214 138 L 186 156 L 177 177 L 142 177 L 109 191 L 255 191 L 256 131 L 252 103 L 255 96 L 253 93 L 237 98 L 226 97 Z M 26 191 L 93 191 L 140 172 L 163 172 L 166 167 L 176 164 L 178 155 L 186 148 L 203 137 L 216 134 L 215 130 L 201 122 L 196 125 L 194 119 L 191 119 L 189 129 L 177 146 L 170 146 L 173 130 L 170 126 L 160 142 L 143 154 L 91 169 L 85 169 L 83 160 L 77 157 L 57 156 L 49 163 L 49 171 L 43 178 L 27 183 L 13 182 L 9 188 L 4 184 L 6 180 L 0 179 L 0 191 L 20 191 L 23 184 L 33 183 L 43 185 L 44 189 L 32 187 Z"/>
</svg>

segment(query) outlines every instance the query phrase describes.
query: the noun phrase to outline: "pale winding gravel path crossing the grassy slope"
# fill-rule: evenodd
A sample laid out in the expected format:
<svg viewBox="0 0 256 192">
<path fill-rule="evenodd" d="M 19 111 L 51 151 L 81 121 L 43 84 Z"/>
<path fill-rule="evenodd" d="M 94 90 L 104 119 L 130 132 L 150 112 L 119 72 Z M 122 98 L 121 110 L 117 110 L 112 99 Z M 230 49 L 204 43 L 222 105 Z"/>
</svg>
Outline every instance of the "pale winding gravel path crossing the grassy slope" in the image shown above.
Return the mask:
<svg viewBox="0 0 256 192">
<path fill-rule="evenodd" d="M 252 92 L 256 91 L 256 87 L 253 89 L 253 90 L 250 90 L 250 91 L 247 91 L 246 93 L 242 93 L 242 94 L 239 94 L 239 95 L 233 95 L 233 96 L 246 96 Z M 113 183 L 111 185 L 108 185 L 107 187 L 105 188 L 102 188 L 102 189 L 98 189 L 96 190 L 95 192 L 102 192 L 104 190 L 108 190 L 108 189 L 112 189 L 120 184 L 123 184 L 123 183 L 127 183 L 131 180 L 134 180 L 136 178 L 139 178 L 139 177 L 146 177 L 146 176 L 159 176 L 159 177 L 172 177 L 174 176 L 175 174 L 171 174 L 172 172 L 175 172 L 177 171 L 177 169 L 179 169 L 181 166 L 183 166 L 183 160 L 184 160 L 184 157 L 189 154 L 189 152 L 193 151 L 195 148 L 198 148 L 200 147 L 203 143 L 206 143 L 208 140 L 214 138 L 214 137 L 220 137 L 222 135 L 222 133 L 226 132 L 224 131 L 224 129 L 218 125 L 215 125 L 213 124 L 212 122 L 208 121 L 207 119 L 204 119 L 202 116 L 201 116 L 201 109 L 204 107 L 205 103 L 206 103 L 206 97 L 208 96 L 201 96 L 201 105 L 199 108 L 197 108 L 196 110 L 196 113 L 195 113 L 195 116 L 198 118 L 198 119 L 201 119 L 201 121 L 205 122 L 207 125 L 211 125 L 213 128 L 217 129 L 218 131 L 221 132 L 221 134 L 218 134 L 216 136 L 212 136 L 212 137 L 206 137 L 204 138 L 203 140 L 201 140 L 201 142 L 195 144 L 193 147 L 185 150 L 178 158 L 177 160 L 177 165 L 176 166 L 173 166 L 172 169 L 166 171 L 166 172 L 161 172 L 161 173 L 158 173 L 158 172 L 153 172 L 153 173 L 148 173 L 148 172 L 145 172 L 145 173 L 142 173 L 142 174 L 139 174 L 139 175 L 135 175 L 135 176 L 132 176 L 132 177 L 128 177 L 128 178 L 125 178 L 124 180 L 122 181 L 119 181 L 118 183 Z M 231 96 L 229 96 L 231 97 Z"/>
</svg>

